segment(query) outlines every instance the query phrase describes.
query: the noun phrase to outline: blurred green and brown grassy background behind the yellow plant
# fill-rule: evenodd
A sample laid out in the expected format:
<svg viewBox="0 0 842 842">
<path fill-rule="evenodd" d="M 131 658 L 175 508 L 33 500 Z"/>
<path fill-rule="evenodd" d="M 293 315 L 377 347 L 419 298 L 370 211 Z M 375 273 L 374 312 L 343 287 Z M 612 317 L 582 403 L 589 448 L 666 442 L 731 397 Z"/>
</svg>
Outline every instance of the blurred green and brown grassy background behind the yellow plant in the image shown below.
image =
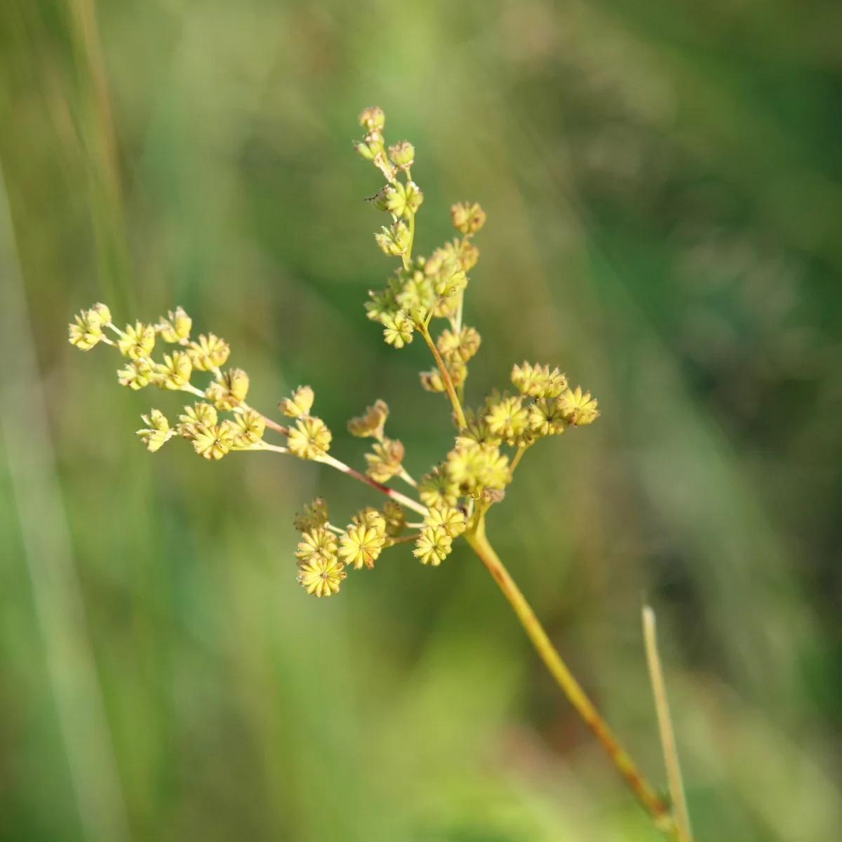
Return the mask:
<svg viewBox="0 0 842 842">
<path fill-rule="evenodd" d="M 489 536 L 663 781 L 658 611 L 699 840 L 842 838 L 842 8 L 831 0 L 0 3 L 0 839 L 658 839 L 460 546 L 332 600 L 291 519 L 327 468 L 136 440 L 67 322 L 176 304 L 251 402 L 311 384 L 333 452 L 377 397 L 423 473 L 450 446 L 350 141 L 407 137 L 418 248 L 478 200 L 472 402 L 524 359 L 600 400 Z"/>
</svg>

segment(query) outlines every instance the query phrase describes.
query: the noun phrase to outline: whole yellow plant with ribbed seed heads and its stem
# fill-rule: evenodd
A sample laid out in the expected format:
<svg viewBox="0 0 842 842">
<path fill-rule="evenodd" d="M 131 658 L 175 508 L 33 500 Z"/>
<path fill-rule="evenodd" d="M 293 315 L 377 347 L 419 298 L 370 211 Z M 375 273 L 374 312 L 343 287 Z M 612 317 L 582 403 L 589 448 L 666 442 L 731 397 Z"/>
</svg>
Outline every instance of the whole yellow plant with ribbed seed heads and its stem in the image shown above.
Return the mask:
<svg viewBox="0 0 842 842">
<path fill-rule="evenodd" d="M 304 514 L 295 521 L 301 532 L 295 555 L 298 581 L 307 594 L 337 594 L 349 571 L 374 568 L 381 553 L 395 544 L 412 542 L 413 555 L 419 562 L 437 566 L 450 555 L 453 541 L 465 539 L 643 807 L 659 827 L 686 842 L 689 829 L 675 820 L 666 800 L 622 749 L 552 646 L 486 536 L 486 518 L 503 500 L 526 450 L 546 437 L 570 434 L 592 424 L 600 414 L 597 402 L 581 386 L 571 387 L 559 369 L 524 362 L 512 368 L 512 392 L 494 391 L 478 405 L 466 404 L 468 367 L 480 348 L 481 337 L 477 328 L 464 323 L 463 301 L 468 273 L 479 259 L 474 237 L 485 224 L 485 212 L 476 203 L 453 205 L 450 219 L 457 236 L 429 257 L 413 253 L 415 218 L 424 202 L 424 194 L 412 179 L 413 145 L 402 141 L 386 147 L 385 117 L 379 108 L 365 109 L 360 125 L 365 136 L 355 148 L 386 179 L 368 200 L 387 215 L 389 222 L 375 234 L 376 244 L 399 260 L 386 287 L 370 292 L 365 309 L 370 320 L 381 325 L 386 343 L 396 349 L 412 342 L 416 334 L 424 339 L 435 365 L 420 372 L 421 386 L 447 397 L 456 428 L 450 451 L 418 481 L 403 466 L 401 441 L 386 435 L 386 402 L 378 400 L 348 422 L 350 434 L 371 440 L 370 452 L 365 454 L 365 472 L 358 472 L 331 456 L 333 434 L 312 412 L 315 395 L 310 386 L 299 386 L 280 402 L 280 411 L 289 418 L 285 424 L 259 412 L 247 402 L 248 374 L 239 368 L 223 370 L 231 350 L 228 344 L 214 333 L 191 339 L 192 320 L 181 307 L 157 324 L 135 322 L 120 329 L 112 321 L 109 308 L 96 304 L 70 325 L 70 342 L 85 351 L 100 343 L 115 346 L 125 358 L 117 372 L 123 386 L 141 389 L 154 385 L 195 398 L 184 406 L 175 423 L 159 409 L 141 416 L 144 427 L 137 434 L 152 452 L 168 440 L 181 437 L 209 460 L 239 450 L 290 453 L 332 466 L 385 495 L 381 509 L 360 509 L 344 527 L 330 521 L 323 499 L 304 507 Z M 442 322 L 439 333 L 434 325 Z M 434 337 L 434 333 L 438 335 Z M 171 349 L 155 360 L 158 340 Z M 202 375 L 208 379 L 199 385 L 196 380 Z M 269 430 L 280 435 L 280 444 L 265 440 Z M 408 486 L 408 493 L 387 484 L 395 480 Z"/>
</svg>

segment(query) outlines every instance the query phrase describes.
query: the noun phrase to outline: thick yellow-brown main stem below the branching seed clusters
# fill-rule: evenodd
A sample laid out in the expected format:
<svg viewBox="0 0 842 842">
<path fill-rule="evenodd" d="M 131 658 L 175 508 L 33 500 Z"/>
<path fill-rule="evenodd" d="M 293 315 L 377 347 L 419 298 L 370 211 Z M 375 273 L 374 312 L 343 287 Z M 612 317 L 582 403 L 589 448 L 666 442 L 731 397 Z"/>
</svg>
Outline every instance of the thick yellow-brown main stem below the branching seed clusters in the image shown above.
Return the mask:
<svg viewBox="0 0 842 842">
<path fill-rule="evenodd" d="M 494 552 L 493 547 L 488 543 L 488 538 L 485 536 L 485 517 L 483 514 L 480 514 L 477 520 L 475 520 L 474 525 L 472 525 L 472 528 L 466 531 L 465 537 L 472 546 L 473 551 L 477 553 L 482 563 L 488 568 L 488 572 L 491 573 L 494 581 L 497 582 L 512 608 L 514 608 L 514 613 L 517 614 L 532 644 L 536 647 L 538 654 L 541 655 L 541 659 L 546 664 L 547 669 L 552 673 L 552 677 L 556 679 L 564 695 L 568 697 L 568 701 L 570 701 L 578 715 L 582 717 L 584 723 L 600 741 L 611 763 L 614 764 L 616 770 L 625 779 L 626 784 L 634 792 L 637 800 L 641 802 L 642 806 L 653 819 L 659 822 L 663 822 L 666 819 L 672 824 L 669 807 L 667 807 L 658 796 L 658 793 L 653 789 L 653 786 L 642 775 L 641 770 L 637 768 L 637 765 L 635 765 L 632 758 L 626 753 L 626 750 L 623 749 L 621 743 L 617 740 L 610 727 L 608 727 L 608 724 L 600 716 L 593 702 L 585 695 L 584 690 L 582 690 L 578 681 L 573 677 L 567 664 L 562 661 L 556 648 L 553 647 L 550 638 L 547 637 L 546 632 L 535 615 L 535 611 L 532 610 L 518 586 L 514 584 L 514 579 L 509 575 L 509 571 L 506 570 L 503 562 L 500 561 L 497 553 Z M 685 842 L 685 840 L 682 839 L 682 842 Z"/>
</svg>

